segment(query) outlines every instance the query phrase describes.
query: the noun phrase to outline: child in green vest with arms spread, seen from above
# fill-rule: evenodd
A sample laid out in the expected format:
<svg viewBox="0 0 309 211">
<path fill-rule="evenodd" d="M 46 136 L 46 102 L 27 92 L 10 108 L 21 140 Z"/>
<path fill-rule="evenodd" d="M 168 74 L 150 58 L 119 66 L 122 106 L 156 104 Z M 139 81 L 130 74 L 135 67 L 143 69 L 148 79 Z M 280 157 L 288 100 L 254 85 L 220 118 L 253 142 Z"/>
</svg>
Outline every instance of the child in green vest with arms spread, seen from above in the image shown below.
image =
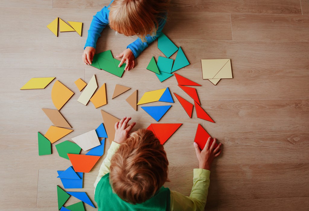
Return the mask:
<svg viewBox="0 0 309 211">
<path fill-rule="evenodd" d="M 204 210 L 210 183 L 210 166 L 221 153 L 210 138 L 201 151 L 194 147 L 199 168 L 193 169 L 190 196 L 163 187 L 167 181 L 168 161 L 163 145 L 147 130 L 129 135 L 135 123 L 126 128 L 131 118 L 115 124 L 115 139 L 108 149 L 94 183 L 95 201 L 100 210 Z"/>
</svg>

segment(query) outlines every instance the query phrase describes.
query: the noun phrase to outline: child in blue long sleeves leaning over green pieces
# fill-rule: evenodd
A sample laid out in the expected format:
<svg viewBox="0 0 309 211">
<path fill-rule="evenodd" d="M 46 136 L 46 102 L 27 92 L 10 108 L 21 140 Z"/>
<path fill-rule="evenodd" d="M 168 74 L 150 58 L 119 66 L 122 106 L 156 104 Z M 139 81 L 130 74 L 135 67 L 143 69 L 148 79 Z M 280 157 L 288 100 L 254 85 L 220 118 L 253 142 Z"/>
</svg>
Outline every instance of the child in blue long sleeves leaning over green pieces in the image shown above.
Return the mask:
<svg viewBox="0 0 309 211">
<path fill-rule="evenodd" d="M 166 23 L 169 0 L 112 0 L 108 6 L 93 16 L 84 47 L 83 61 L 91 64 L 96 42 L 102 30 L 109 25 L 116 33 L 138 36 L 117 58 L 125 62 L 125 70 L 134 68 L 134 59 L 160 36 Z"/>
</svg>

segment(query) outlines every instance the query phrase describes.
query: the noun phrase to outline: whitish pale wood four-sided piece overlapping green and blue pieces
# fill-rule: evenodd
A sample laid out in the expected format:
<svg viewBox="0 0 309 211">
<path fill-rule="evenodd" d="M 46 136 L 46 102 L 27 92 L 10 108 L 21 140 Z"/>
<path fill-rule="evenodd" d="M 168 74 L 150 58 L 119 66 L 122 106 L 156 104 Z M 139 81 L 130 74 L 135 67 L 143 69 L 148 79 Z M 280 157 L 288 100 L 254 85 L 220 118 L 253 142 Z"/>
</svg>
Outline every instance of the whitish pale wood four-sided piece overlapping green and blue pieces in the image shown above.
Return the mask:
<svg viewBox="0 0 309 211">
<path fill-rule="evenodd" d="M 100 141 L 95 130 L 76 136 L 72 138 L 72 140 L 84 151 L 100 145 Z"/>
</svg>

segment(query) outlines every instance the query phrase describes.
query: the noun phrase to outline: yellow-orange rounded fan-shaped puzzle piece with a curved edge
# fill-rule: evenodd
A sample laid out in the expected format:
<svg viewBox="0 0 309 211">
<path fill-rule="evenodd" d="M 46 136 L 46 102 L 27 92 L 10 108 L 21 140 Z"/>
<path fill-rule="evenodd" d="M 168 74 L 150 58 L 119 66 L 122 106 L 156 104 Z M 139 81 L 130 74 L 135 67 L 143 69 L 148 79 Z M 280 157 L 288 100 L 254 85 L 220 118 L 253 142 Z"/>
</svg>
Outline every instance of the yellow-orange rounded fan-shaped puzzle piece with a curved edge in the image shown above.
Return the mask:
<svg viewBox="0 0 309 211">
<path fill-rule="evenodd" d="M 54 106 L 60 110 L 73 94 L 74 92 L 57 80 L 52 88 L 52 101 Z"/>
</svg>

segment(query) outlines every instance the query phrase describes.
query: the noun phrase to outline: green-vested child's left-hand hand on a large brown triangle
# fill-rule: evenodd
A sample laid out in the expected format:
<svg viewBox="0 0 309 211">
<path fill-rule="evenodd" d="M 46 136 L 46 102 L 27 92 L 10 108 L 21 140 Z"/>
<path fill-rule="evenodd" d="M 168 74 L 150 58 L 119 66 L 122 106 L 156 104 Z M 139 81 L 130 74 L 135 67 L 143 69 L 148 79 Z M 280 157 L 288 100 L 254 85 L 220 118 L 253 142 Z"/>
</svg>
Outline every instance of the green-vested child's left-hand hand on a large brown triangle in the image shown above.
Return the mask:
<svg viewBox="0 0 309 211">
<path fill-rule="evenodd" d="M 136 124 L 135 122 L 133 122 L 131 125 L 129 125 L 129 127 L 127 127 L 127 124 L 130 121 L 130 119 L 131 117 L 129 118 L 124 117 L 120 120 L 120 122 L 116 122 L 115 124 L 116 132 L 115 132 L 115 139 L 114 139 L 116 143 L 121 144 L 125 142 L 125 140 L 127 140 L 130 131 Z"/>
</svg>

